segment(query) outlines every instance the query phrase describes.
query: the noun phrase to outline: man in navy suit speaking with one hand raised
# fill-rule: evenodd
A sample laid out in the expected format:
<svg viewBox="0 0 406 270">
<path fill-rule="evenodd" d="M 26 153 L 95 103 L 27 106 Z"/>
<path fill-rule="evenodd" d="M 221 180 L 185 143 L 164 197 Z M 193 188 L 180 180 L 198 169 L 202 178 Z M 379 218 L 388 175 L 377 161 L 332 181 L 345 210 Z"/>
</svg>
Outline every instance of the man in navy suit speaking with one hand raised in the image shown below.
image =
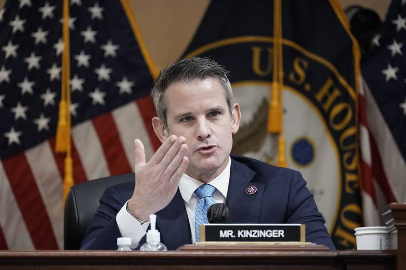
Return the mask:
<svg viewBox="0 0 406 270">
<path fill-rule="evenodd" d="M 304 223 L 306 241 L 334 249 L 300 173 L 230 158 L 241 112 L 223 67 L 207 58 L 176 62 L 161 71 L 152 97 L 158 115 L 152 125 L 162 145 L 146 162 L 142 142 L 135 141 L 136 181 L 105 191 L 82 249 L 115 249 L 117 237 L 130 237 L 136 248 L 153 213 L 168 249 L 197 242 L 196 205 L 207 197 L 227 204 L 232 223 Z M 211 195 L 200 198 L 198 189 L 209 185 Z"/>
</svg>

